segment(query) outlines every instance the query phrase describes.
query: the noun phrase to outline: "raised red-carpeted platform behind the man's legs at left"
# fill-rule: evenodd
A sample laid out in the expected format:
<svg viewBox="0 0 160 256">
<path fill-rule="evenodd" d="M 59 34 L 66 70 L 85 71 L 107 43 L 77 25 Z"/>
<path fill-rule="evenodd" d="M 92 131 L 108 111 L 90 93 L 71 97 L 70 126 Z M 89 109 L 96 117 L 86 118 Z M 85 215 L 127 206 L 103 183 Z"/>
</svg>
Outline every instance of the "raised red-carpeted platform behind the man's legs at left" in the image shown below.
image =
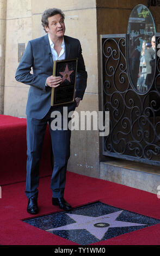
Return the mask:
<svg viewBox="0 0 160 256">
<path fill-rule="evenodd" d="M 0 185 L 26 180 L 26 119 L 0 115 Z M 51 175 L 51 143 L 47 127 L 40 176 Z"/>
</svg>

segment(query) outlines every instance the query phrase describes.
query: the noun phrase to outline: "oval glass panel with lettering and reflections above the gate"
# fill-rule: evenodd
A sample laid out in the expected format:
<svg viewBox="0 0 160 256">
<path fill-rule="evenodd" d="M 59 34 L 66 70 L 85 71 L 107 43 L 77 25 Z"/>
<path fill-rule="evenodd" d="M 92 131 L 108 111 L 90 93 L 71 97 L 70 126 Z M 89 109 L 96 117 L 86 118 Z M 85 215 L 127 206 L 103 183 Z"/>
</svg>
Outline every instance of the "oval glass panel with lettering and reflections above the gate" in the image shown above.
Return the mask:
<svg viewBox="0 0 160 256">
<path fill-rule="evenodd" d="M 145 94 L 155 76 L 155 22 L 150 10 L 138 4 L 131 12 L 127 28 L 127 69 L 131 86 Z"/>
</svg>

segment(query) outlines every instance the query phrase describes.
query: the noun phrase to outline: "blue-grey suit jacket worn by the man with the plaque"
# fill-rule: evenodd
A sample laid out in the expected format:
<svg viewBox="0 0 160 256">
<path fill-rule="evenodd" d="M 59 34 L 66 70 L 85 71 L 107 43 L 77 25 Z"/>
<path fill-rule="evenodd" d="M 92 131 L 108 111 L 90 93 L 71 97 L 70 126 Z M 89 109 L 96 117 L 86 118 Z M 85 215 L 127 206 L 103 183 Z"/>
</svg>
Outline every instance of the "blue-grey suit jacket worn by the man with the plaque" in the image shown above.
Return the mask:
<svg viewBox="0 0 160 256">
<path fill-rule="evenodd" d="M 65 59 L 78 58 L 75 97 L 83 99 L 87 87 L 81 44 L 78 39 L 64 35 Z M 33 69 L 33 74 L 31 71 Z M 46 87 L 46 79 L 53 74 L 53 59 L 48 35 L 30 40 L 17 68 L 15 78 L 30 86 L 26 114 L 42 119 L 51 107 L 51 87 Z"/>
</svg>

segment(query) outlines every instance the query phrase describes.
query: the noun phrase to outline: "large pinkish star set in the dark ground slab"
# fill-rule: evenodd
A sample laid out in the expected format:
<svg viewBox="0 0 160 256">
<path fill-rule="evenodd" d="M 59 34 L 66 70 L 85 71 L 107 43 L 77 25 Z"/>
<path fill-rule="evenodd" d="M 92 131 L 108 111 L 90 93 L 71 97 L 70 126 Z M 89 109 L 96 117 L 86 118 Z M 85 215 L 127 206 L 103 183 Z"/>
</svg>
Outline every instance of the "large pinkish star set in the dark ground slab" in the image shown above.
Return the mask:
<svg viewBox="0 0 160 256">
<path fill-rule="evenodd" d="M 112 214 L 106 214 L 99 217 L 90 217 L 78 214 L 66 214 L 74 221 L 76 221 L 76 223 L 64 225 L 58 228 L 47 229 L 46 231 L 52 233 L 52 231 L 54 230 L 86 229 L 97 239 L 101 240 L 109 228 L 145 225 L 133 222 L 116 221 L 116 218 L 118 218 L 122 211 L 116 211 Z"/>
</svg>

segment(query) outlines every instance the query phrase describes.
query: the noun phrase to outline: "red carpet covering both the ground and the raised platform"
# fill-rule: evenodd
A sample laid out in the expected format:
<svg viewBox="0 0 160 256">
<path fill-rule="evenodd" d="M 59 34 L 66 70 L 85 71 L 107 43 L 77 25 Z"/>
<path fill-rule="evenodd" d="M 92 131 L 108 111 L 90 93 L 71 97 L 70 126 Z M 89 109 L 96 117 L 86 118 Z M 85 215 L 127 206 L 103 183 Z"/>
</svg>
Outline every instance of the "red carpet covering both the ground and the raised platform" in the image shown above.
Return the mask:
<svg viewBox="0 0 160 256">
<path fill-rule="evenodd" d="M 26 211 L 27 198 L 24 193 L 26 120 L 0 115 L 0 143 L 0 245 L 76 245 L 75 242 L 22 221 L 33 218 Z M 40 212 L 36 216 L 60 211 L 57 206 L 52 205 L 51 176 L 47 176 L 51 172 L 50 135 L 47 130 L 39 184 Z M 160 219 L 160 199 L 156 194 L 71 172 L 67 172 L 65 199 L 73 207 L 101 201 L 117 208 Z M 159 237 L 160 224 L 156 224 L 94 245 L 160 245 Z"/>
</svg>

